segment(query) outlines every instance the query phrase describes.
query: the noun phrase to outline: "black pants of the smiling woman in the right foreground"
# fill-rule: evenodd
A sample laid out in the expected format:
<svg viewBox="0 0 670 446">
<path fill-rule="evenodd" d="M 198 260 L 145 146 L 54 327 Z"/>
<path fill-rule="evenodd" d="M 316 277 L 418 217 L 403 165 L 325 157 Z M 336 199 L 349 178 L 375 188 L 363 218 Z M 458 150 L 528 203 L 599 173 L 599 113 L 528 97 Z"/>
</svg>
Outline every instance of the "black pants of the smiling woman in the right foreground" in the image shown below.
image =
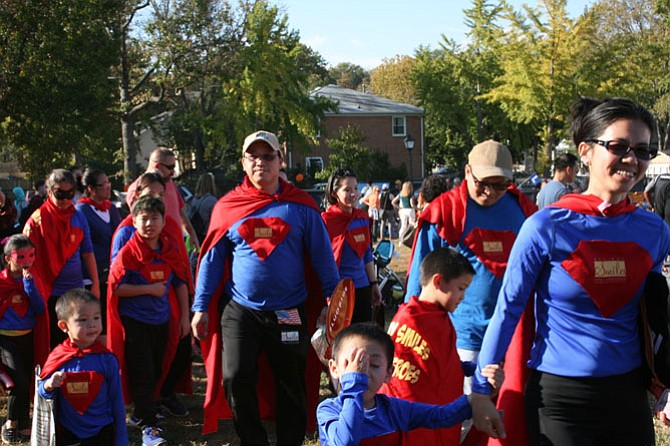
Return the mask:
<svg viewBox="0 0 670 446">
<path fill-rule="evenodd" d="M 526 420 L 534 445 L 654 444 L 644 373 L 639 369 L 603 378 L 531 370 Z"/>
</svg>

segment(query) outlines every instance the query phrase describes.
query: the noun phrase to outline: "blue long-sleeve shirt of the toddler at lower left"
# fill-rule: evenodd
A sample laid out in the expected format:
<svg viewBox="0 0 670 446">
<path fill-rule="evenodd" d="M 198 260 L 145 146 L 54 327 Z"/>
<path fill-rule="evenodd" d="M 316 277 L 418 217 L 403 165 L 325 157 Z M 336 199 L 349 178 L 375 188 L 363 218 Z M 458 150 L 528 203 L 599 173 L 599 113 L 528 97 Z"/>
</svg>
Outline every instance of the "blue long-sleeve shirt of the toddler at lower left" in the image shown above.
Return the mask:
<svg viewBox="0 0 670 446">
<path fill-rule="evenodd" d="M 47 392 L 44 389 L 46 379 L 40 380 L 38 387 L 40 396 L 46 399 L 55 398 L 55 412 L 58 422 L 80 439 L 91 438 L 100 432 L 103 427 L 114 423 L 114 446 L 128 446 L 126 410 L 123 403 L 120 369 L 116 356 L 112 353 L 89 353 L 82 357 L 70 359 L 58 370 L 66 373 L 94 371 L 104 376 L 100 391 L 83 415 L 80 415 L 62 395 L 60 388 Z M 66 385 L 66 383 L 67 381 L 63 385 Z"/>
</svg>

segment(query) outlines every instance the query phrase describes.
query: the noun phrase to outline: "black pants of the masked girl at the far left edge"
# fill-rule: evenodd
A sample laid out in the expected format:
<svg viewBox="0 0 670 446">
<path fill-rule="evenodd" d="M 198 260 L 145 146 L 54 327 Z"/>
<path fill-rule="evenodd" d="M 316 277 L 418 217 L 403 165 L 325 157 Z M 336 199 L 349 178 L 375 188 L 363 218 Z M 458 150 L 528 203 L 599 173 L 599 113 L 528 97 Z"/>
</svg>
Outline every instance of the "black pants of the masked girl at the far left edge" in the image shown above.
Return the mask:
<svg viewBox="0 0 670 446">
<path fill-rule="evenodd" d="M 30 385 L 33 382 L 33 333 L 0 335 L 0 361 L 14 387 L 7 397 L 7 419 L 19 422 L 19 430 L 30 428 Z"/>
</svg>

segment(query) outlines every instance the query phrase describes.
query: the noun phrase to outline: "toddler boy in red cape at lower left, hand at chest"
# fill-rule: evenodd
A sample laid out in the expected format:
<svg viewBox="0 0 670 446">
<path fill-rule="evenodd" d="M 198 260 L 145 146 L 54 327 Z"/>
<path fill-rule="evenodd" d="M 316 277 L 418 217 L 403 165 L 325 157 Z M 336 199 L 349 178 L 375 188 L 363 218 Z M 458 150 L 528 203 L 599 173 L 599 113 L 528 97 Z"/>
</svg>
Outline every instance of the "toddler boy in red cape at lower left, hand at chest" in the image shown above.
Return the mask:
<svg viewBox="0 0 670 446">
<path fill-rule="evenodd" d="M 56 303 L 58 327 L 68 339 L 47 358 L 39 394 L 55 398 L 57 444 L 127 446 L 119 363 L 97 339 L 100 302 L 79 288 Z"/>
</svg>

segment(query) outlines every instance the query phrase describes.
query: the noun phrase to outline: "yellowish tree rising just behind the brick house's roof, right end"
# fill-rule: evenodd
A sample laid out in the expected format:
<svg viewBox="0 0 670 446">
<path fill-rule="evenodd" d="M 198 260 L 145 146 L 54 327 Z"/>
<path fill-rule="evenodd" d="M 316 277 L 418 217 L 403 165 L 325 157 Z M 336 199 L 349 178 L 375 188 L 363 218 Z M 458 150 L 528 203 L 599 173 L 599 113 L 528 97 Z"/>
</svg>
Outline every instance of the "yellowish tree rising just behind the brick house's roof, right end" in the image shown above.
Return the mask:
<svg viewBox="0 0 670 446">
<path fill-rule="evenodd" d="M 416 90 L 412 80 L 414 59 L 396 56 L 384 59 L 382 64 L 370 72 L 370 88 L 377 96 L 416 104 Z"/>
</svg>

